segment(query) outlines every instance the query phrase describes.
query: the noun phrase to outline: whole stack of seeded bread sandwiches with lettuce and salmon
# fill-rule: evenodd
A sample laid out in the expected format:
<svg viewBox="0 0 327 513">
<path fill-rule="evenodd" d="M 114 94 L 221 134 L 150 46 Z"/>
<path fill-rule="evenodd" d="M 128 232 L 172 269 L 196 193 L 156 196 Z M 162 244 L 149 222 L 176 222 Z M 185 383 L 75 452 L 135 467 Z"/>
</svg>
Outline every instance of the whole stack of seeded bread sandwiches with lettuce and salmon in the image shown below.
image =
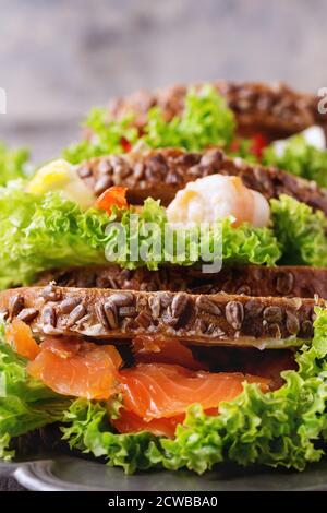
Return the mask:
<svg viewBox="0 0 327 513">
<path fill-rule="evenodd" d="M 325 124 L 280 85 L 142 92 L 1 189 L 2 457 L 55 428 L 126 472 L 322 457 Z"/>
</svg>

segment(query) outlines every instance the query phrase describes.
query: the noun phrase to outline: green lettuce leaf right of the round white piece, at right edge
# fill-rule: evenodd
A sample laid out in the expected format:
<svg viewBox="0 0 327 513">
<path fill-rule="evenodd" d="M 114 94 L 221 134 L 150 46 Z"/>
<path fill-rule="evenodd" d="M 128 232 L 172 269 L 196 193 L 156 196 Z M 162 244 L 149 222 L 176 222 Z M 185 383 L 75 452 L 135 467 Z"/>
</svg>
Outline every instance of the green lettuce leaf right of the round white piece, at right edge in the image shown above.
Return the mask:
<svg viewBox="0 0 327 513">
<path fill-rule="evenodd" d="M 327 265 L 327 218 L 305 203 L 281 194 L 271 200 L 274 231 L 282 246 L 280 263 Z"/>
</svg>

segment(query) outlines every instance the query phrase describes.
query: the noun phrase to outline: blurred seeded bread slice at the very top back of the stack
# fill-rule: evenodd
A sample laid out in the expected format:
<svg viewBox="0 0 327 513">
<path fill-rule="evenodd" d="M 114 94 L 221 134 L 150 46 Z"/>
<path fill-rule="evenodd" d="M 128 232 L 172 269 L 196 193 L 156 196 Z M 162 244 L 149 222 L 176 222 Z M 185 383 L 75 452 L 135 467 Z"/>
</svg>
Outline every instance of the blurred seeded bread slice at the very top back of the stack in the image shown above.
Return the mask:
<svg viewBox="0 0 327 513">
<path fill-rule="evenodd" d="M 264 133 L 270 140 L 291 135 L 313 124 L 326 127 L 326 115 L 319 114 L 318 96 L 298 93 L 282 83 L 211 82 L 234 111 L 238 131 L 242 135 Z M 203 84 L 195 84 L 196 90 Z M 167 120 L 180 115 L 190 85 L 175 84 L 150 91 L 138 91 L 131 96 L 113 99 L 108 110 L 111 118 L 136 115 L 135 124 L 142 128 L 147 111 L 160 107 Z"/>
</svg>

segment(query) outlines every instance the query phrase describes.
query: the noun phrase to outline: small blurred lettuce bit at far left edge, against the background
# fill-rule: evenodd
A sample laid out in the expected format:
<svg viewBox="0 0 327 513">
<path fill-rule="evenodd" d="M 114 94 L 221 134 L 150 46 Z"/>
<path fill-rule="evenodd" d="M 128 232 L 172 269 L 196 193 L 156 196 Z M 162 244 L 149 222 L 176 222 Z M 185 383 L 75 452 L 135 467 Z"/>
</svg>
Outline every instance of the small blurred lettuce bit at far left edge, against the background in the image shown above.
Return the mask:
<svg viewBox="0 0 327 513">
<path fill-rule="evenodd" d="M 0 142 L 0 186 L 16 178 L 26 178 L 32 174 L 28 165 L 29 152 L 26 148 L 9 148 Z"/>
</svg>

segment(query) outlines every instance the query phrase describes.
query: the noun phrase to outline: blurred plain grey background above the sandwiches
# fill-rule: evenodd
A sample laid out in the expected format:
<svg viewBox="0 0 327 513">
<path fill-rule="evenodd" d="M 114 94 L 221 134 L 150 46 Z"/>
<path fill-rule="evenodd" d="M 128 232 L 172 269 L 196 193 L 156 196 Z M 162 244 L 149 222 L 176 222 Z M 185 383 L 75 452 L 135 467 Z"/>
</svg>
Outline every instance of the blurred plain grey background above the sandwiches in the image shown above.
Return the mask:
<svg viewBox="0 0 327 513">
<path fill-rule="evenodd" d="M 0 139 L 55 156 L 93 105 L 170 82 L 327 86 L 326 0 L 0 0 Z"/>
</svg>

